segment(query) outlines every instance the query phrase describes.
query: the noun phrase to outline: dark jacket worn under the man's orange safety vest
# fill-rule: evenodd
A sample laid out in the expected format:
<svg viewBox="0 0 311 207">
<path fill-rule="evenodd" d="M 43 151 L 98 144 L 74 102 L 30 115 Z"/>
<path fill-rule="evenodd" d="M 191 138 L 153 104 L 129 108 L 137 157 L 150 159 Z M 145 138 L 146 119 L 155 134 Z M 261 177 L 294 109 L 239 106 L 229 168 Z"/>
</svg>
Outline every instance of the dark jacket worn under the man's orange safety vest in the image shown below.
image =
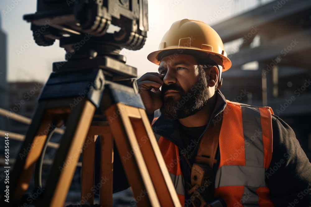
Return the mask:
<svg viewBox="0 0 311 207">
<path fill-rule="evenodd" d="M 226 106 L 225 97 L 217 90 L 217 102 L 211 119 L 221 115 Z M 152 120 L 153 117 L 149 117 Z M 208 126 L 207 126 L 208 127 Z M 163 116 L 152 126 L 154 133 L 165 137 L 179 147 L 187 149 L 186 142 L 180 138 L 178 120 L 165 119 Z M 272 115 L 273 153 L 266 183 L 270 189 L 270 199 L 275 206 L 311 206 L 311 163 L 302 150 L 294 131 L 278 116 Z M 208 128 L 206 133 L 208 133 Z M 200 140 L 197 140 L 200 142 Z M 198 143 L 199 144 L 199 143 Z M 198 145 L 188 151 L 190 162 L 194 162 Z M 115 151 L 117 150 L 114 148 Z M 181 168 L 185 181 L 190 182 L 190 167 L 181 156 Z M 218 158 L 219 158 L 218 153 Z M 214 169 L 216 172 L 216 169 Z M 128 188 L 118 153 L 114 153 L 114 192 Z M 187 193 L 186 193 L 187 195 Z M 187 199 L 187 196 L 186 196 Z"/>
</svg>

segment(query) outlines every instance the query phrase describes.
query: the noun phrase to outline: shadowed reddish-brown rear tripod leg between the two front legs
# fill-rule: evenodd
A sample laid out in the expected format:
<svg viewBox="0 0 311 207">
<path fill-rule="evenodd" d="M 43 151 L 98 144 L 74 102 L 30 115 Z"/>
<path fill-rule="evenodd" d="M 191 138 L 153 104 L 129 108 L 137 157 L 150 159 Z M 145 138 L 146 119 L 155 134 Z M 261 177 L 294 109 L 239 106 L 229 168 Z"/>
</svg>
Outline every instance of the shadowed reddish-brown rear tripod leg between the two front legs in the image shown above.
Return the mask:
<svg viewBox="0 0 311 207">
<path fill-rule="evenodd" d="M 100 135 L 100 182 L 94 187 L 95 137 Z M 113 137 L 105 126 L 91 126 L 82 153 L 81 201 L 94 204 L 94 193 L 100 194 L 100 206 L 112 207 L 113 192 Z M 100 191 L 99 191 L 100 190 Z M 99 191 L 99 192 L 98 192 Z M 83 203 L 81 203 L 83 204 Z"/>
</svg>

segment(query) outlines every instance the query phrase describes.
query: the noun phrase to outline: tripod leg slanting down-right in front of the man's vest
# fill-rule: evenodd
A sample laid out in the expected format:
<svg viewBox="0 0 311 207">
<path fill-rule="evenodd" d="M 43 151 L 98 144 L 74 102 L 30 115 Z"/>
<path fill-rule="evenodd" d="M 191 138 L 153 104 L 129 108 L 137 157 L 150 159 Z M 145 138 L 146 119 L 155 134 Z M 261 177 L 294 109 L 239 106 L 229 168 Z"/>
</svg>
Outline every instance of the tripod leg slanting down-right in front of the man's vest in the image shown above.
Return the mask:
<svg viewBox="0 0 311 207">
<path fill-rule="evenodd" d="M 125 158 L 123 165 L 134 196 L 138 198 L 142 191 L 148 192 L 146 196 L 140 196 L 142 200 L 137 205 L 181 206 L 146 112 L 117 103 L 105 113 L 120 157 Z M 130 158 L 128 152 L 132 155 Z"/>
</svg>

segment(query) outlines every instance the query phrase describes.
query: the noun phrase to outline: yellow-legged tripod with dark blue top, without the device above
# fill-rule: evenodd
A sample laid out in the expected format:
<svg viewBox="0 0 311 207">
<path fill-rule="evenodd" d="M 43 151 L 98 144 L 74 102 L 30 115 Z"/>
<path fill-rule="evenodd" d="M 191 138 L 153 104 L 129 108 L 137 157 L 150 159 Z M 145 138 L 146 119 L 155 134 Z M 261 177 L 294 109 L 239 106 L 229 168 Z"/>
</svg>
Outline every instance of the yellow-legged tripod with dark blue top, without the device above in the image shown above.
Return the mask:
<svg viewBox="0 0 311 207">
<path fill-rule="evenodd" d="M 94 47 L 101 56 L 90 59 Z M 124 57 L 115 51 L 119 50 L 107 43 L 101 42 L 99 47 L 94 38 L 72 60 L 53 63 L 53 73 L 40 95 L 20 152 L 32 147 L 26 157 L 17 157 L 10 177 L 10 203 L 2 197 L 1 206 L 16 206 L 21 200 L 47 140 L 44 131 L 52 122 L 57 127 L 65 124 L 66 130 L 36 206 L 64 205 L 85 144 L 88 146 L 82 152 L 81 198 L 87 196 L 93 204 L 96 135 L 101 139 L 100 177 L 107 180 L 100 188 L 100 206 L 112 206 L 113 140 L 120 157 L 134 151 L 130 159 L 123 161 L 123 167 L 134 196 L 147 191 L 138 206 L 180 206 L 137 83 L 130 79 L 137 77 L 136 68 L 126 65 Z M 91 137 L 91 143 L 86 142 L 86 137 Z M 67 164 L 69 160 L 71 164 Z"/>
</svg>

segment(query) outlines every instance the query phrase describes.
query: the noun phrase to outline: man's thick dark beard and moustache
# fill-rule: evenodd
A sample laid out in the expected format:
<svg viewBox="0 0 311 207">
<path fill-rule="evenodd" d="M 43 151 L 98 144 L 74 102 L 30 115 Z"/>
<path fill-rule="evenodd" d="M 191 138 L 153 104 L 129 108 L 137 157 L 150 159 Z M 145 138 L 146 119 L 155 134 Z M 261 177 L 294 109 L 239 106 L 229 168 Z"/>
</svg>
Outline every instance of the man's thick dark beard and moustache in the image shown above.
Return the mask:
<svg viewBox="0 0 311 207">
<path fill-rule="evenodd" d="M 160 111 L 166 119 L 183 119 L 194 115 L 202 109 L 210 98 L 205 72 L 202 69 L 199 69 L 199 79 L 197 83 L 189 87 L 186 91 L 183 91 L 183 89 L 176 84 L 163 84 L 161 88 L 162 95 L 170 89 L 178 91 L 180 98 L 176 100 L 176 98 L 172 96 L 165 97 Z"/>
</svg>

